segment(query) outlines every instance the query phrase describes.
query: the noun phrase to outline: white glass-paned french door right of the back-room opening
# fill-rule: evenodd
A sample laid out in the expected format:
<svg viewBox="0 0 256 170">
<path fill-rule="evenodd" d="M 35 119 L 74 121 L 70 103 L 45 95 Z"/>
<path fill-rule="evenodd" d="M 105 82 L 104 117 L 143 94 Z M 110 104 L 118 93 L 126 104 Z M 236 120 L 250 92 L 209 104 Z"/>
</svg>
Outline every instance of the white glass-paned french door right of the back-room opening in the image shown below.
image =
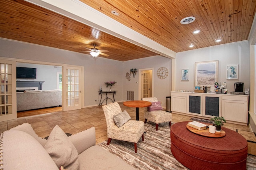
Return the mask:
<svg viewBox="0 0 256 170">
<path fill-rule="evenodd" d="M 63 67 L 62 94 L 63 111 L 81 109 L 81 68 Z"/>
</svg>

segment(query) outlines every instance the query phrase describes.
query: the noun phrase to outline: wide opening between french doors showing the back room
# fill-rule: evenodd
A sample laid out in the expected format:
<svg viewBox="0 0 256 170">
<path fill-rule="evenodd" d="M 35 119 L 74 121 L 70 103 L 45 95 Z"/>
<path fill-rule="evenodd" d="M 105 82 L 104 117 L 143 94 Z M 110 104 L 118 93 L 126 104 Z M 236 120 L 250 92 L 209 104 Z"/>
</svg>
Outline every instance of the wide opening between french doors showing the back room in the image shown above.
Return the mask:
<svg viewBox="0 0 256 170">
<path fill-rule="evenodd" d="M 62 78 L 62 66 L 22 61 L 16 62 L 16 65 L 17 67 L 36 69 L 36 76 L 34 78 L 16 78 L 16 91 L 18 91 L 16 97 L 17 117 L 62 111 L 62 79 L 60 79 Z M 35 93 L 24 93 L 25 90 L 30 90 L 30 92 L 34 90 Z M 46 93 L 52 96 L 51 100 L 45 99 Z M 26 102 L 24 102 L 23 99 L 26 98 L 27 95 L 33 99 L 38 97 L 40 100 L 36 101 L 34 105 L 34 101 L 31 99 L 27 99 Z"/>
</svg>

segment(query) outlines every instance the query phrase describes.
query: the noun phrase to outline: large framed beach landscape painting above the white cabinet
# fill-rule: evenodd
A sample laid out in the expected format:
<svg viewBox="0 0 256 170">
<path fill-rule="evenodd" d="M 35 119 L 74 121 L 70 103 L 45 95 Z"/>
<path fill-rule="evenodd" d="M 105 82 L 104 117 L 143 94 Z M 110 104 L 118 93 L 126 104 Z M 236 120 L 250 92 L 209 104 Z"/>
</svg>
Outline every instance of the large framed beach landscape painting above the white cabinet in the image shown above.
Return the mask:
<svg viewBox="0 0 256 170">
<path fill-rule="evenodd" d="M 218 60 L 195 63 L 195 86 L 213 86 L 218 82 Z"/>
</svg>

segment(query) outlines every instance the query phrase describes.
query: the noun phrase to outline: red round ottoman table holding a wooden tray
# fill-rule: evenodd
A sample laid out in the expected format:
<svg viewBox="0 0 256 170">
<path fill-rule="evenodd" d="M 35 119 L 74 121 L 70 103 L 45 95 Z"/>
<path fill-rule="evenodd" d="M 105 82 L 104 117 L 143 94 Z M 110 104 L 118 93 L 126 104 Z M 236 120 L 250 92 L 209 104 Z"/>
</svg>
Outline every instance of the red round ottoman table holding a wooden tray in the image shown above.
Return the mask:
<svg viewBox="0 0 256 170">
<path fill-rule="evenodd" d="M 191 170 L 245 170 L 247 140 L 239 133 L 221 127 L 222 138 L 209 138 L 190 132 L 188 122 L 171 127 L 171 151 L 181 164 Z"/>
</svg>

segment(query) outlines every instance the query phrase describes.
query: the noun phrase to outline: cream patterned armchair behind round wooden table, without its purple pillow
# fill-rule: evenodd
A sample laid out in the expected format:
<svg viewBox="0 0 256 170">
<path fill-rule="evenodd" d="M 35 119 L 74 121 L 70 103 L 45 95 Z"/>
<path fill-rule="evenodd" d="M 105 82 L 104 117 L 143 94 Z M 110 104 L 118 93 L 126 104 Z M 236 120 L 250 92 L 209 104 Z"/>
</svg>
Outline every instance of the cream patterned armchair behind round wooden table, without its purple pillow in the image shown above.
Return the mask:
<svg viewBox="0 0 256 170">
<path fill-rule="evenodd" d="M 156 97 L 146 97 L 142 98 L 143 101 L 149 101 L 149 102 L 158 102 Z M 156 111 L 148 111 L 148 108 L 145 107 L 144 109 L 144 117 L 145 121 L 144 123 L 147 123 L 147 121 L 151 121 L 156 123 L 156 130 L 158 130 L 158 124 L 169 122 L 169 127 L 171 128 L 171 121 L 172 121 L 172 114 L 163 110 L 156 110 Z"/>
</svg>

